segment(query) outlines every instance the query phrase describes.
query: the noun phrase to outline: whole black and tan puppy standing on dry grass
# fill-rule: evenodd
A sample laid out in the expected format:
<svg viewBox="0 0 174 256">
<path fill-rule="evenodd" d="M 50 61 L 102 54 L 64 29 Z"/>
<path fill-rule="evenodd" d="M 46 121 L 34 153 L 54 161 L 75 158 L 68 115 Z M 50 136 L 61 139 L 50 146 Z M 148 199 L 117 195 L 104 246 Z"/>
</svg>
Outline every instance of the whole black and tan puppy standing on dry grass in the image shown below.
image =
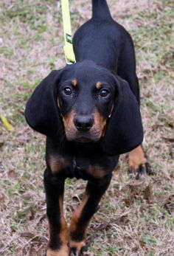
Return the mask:
<svg viewBox="0 0 174 256">
<path fill-rule="evenodd" d="M 81 254 L 120 153 L 130 152 L 129 165 L 138 173 L 147 169 L 132 39 L 105 0 L 92 5 L 92 18 L 74 35 L 77 63 L 51 72 L 25 111 L 28 124 L 46 135 L 47 256 Z M 88 181 L 69 228 L 63 217 L 67 177 Z"/>
</svg>

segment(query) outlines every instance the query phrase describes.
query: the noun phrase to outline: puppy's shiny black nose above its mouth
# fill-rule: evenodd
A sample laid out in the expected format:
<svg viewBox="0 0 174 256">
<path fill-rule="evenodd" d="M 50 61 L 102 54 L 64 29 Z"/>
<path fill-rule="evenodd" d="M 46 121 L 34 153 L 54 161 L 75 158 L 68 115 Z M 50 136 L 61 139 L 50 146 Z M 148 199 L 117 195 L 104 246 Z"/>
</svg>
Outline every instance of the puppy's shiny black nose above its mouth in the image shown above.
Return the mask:
<svg viewBox="0 0 174 256">
<path fill-rule="evenodd" d="M 94 124 L 92 117 L 74 117 L 74 125 L 78 131 L 88 131 Z"/>
</svg>

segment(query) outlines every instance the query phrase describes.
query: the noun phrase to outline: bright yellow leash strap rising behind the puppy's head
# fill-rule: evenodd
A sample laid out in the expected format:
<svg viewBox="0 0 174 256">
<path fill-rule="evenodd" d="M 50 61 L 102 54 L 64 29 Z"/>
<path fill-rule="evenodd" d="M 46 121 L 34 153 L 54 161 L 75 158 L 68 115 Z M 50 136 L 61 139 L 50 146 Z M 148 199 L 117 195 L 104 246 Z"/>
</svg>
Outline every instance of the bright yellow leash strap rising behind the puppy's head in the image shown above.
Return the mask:
<svg viewBox="0 0 174 256">
<path fill-rule="evenodd" d="M 75 55 L 72 46 L 72 27 L 69 13 L 69 0 L 61 0 L 61 7 L 65 40 L 65 46 L 63 47 L 63 49 L 65 52 L 66 63 L 70 65 L 75 62 Z"/>
</svg>

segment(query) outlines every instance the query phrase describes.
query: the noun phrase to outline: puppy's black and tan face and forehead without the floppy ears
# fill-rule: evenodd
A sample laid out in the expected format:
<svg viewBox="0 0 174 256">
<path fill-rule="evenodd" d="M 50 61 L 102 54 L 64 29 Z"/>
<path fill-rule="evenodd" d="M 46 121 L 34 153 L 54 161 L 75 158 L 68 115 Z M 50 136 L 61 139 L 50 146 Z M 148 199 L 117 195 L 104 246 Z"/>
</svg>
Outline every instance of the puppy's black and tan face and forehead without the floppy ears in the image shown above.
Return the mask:
<svg viewBox="0 0 174 256">
<path fill-rule="evenodd" d="M 114 77 L 92 62 L 74 65 L 70 77 L 63 76 L 58 86 L 58 107 L 66 139 L 97 142 L 114 105 Z"/>
</svg>

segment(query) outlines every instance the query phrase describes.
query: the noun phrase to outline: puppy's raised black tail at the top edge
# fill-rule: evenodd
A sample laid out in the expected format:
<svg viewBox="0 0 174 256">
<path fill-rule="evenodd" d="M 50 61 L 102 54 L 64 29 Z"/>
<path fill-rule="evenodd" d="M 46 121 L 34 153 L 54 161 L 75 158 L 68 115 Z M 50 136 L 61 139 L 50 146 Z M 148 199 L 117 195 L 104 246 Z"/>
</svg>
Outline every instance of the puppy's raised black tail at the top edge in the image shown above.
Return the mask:
<svg viewBox="0 0 174 256">
<path fill-rule="evenodd" d="M 106 0 L 92 0 L 92 18 L 100 20 L 111 18 Z"/>
</svg>

